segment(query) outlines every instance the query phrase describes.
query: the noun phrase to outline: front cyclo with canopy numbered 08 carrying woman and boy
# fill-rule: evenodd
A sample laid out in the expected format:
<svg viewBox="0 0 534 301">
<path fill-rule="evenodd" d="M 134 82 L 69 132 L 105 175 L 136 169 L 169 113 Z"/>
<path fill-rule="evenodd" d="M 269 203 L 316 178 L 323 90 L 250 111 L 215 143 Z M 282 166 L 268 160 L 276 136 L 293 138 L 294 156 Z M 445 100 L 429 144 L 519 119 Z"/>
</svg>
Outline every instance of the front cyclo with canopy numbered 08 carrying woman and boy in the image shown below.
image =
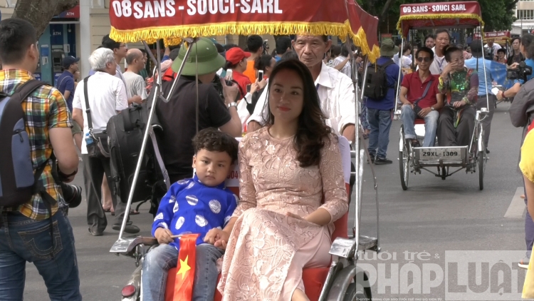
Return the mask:
<svg viewBox="0 0 534 301">
<path fill-rule="evenodd" d="M 332 1 L 313 1 L 306 2 L 305 6 L 308 9 L 293 9 L 294 7 L 303 6 L 301 0 L 291 1 L 276 1 L 278 6 L 275 9 L 271 8 L 269 14 L 244 14 L 239 12 L 239 8 L 231 8 L 229 14 L 211 13 L 209 18 L 199 16 L 196 14 L 183 14 L 180 18 L 165 16 L 162 14 L 159 18 L 145 18 L 134 19 L 127 18 L 126 14 L 122 14 L 121 6 L 124 1 L 112 0 L 110 5 L 110 21 L 112 31 L 110 36 L 115 41 L 134 42 L 143 40 L 145 48 L 148 49 L 147 43 L 152 43 L 158 39 L 165 39 L 167 42 L 172 41 L 177 44 L 177 40 L 182 40 L 182 47 L 187 49 L 185 57 L 180 66 L 177 76 L 179 78 L 184 64 L 186 62 L 194 63 L 198 57 L 191 55 L 192 49 L 197 46 L 196 42 L 199 36 L 216 36 L 222 34 L 298 34 L 309 32 L 316 35 L 340 35 L 342 38 L 347 38 L 352 41 L 355 46 L 360 47 L 360 51 L 369 60 L 375 60 L 378 56 L 377 47 L 377 26 L 378 19 L 365 13 L 360 6 L 355 2 L 346 2 L 336 0 L 337 4 L 332 4 Z M 148 3 L 148 2 L 147 2 Z M 219 2 L 221 3 L 221 2 Z M 272 4 L 272 2 L 271 2 Z M 167 4 L 167 9 L 172 6 L 173 11 L 180 11 L 184 6 L 178 4 Z M 221 10 L 223 8 L 221 7 Z M 241 9 L 242 10 L 242 9 Z M 284 22 L 281 24 L 280 16 L 276 18 L 276 11 L 283 12 Z M 315 11 L 321 11 L 321 14 L 315 14 Z M 167 11 L 168 12 L 168 11 Z M 228 13 L 228 11 L 226 11 Z M 131 15 L 130 15 L 131 16 Z M 137 18 L 137 17 L 136 17 Z M 237 20 L 237 21 L 236 21 Z M 247 21 L 240 21 L 247 20 Z M 350 21 L 347 21 L 350 20 Z M 360 21 L 361 20 L 361 21 Z M 206 23 L 209 21 L 211 23 Z M 189 25 L 194 24 L 194 25 Z M 253 29 L 252 29 L 253 28 Z M 356 34 L 355 34 L 356 33 Z M 366 35 L 368 38 L 366 39 Z M 187 37 L 187 38 L 182 38 Z M 174 41 L 173 41 L 174 40 Z M 349 44 L 349 43 L 347 43 Z M 370 49 L 372 47 L 372 50 Z M 157 43 L 157 58 L 155 58 L 150 51 L 153 61 L 158 66 L 159 71 L 159 43 Z M 353 67 L 355 61 L 351 61 Z M 352 68 L 357 70 L 357 68 Z M 161 73 L 159 73 L 161 74 Z M 198 76 L 198 74 L 197 74 Z M 355 98 L 360 98 L 360 93 L 357 90 L 357 76 L 353 83 L 355 87 Z M 161 95 L 161 76 L 158 76 L 157 83 L 152 88 L 152 101 L 149 118 L 147 124 L 152 124 L 152 116 L 155 112 L 155 103 L 158 99 L 165 101 L 164 96 Z M 198 82 L 198 81 L 197 81 Z M 176 83 L 176 81 L 174 81 Z M 169 95 L 172 93 L 169 92 Z M 355 106 L 355 114 L 358 116 L 359 103 Z M 198 99 L 197 99 L 198 110 Z M 198 118 L 197 118 L 198 122 Z M 359 121 L 357 128 L 361 128 Z M 198 127 L 197 127 L 198 128 Z M 126 216 L 122 222 L 119 238 L 112 245 L 110 252 L 116 255 L 126 255 L 135 258 L 137 269 L 132 274 L 130 281 L 122 289 L 122 300 L 140 300 L 142 292 L 142 262 L 145 259 L 147 252 L 150 252 L 157 240 L 155 238 L 145 237 L 130 237 L 124 238 L 124 228 L 127 222 L 127 214 L 130 212 L 132 205 L 132 195 L 135 190 L 135 183 L 140 171 L 142 157 L 147 146 L 148 137 L 152 134 L 152 128 L 147 127 L 145 136 L 140 149 L 139 160 L 134 174 L 130 188 L 130 194 L 127 200 L 127 207 L 125 209 Z M 333 244 L 330 248 L 330 254 L 333 259 L 330 267 L 304 269 L 303 282 L 305 291 L 311 300 L 370 300 L 371 290 L 368 282 L 367 272 L 356 265 L 360 251 L 373 250 L 379 252 L 379 235 L 378 235 L 378 199 L 377 199 L 377 183 L 375 178 L 375 203 L 377 205 L 377 237 L 372 238 L 365 235 L 360 235 L 360 220 L 362 207 L 362 175 L 365 148 L 362 146 L 362 136 L 360 131 L 356 131 L 353 148 L 356 151 L 350 151 L 350 143 L 347 139 L 340 137 L 340 149 L 342 150 L 342 165 L 345 175 L 345 183 L 349 183 L 350 176 L 355 176 L 355 219 L 354 227 L 352 227 L 352 235 L 348 234 L 348 214 L 337 220 L 335 223 L 335 233 L 333 233 Z M 352 159 L 353 158 L 353 159 Z M 350 163 L 354 163 L 355 172 L 351 172 Z M 161 170 L 162 174 L 166 174 L 165 170 Z M 374 173 L 374 171 L 373 171 Z M 169 183 L 167 188 L 169 188 Z M 239 184 L 235 178 L 228 179 L 227 187 L 233 188 L 234 193 L 239 195 Z M 348 185 L 347 185 L 348 190 Z M 174 278 L 176 277 L 177 269 L 169 270 L 166 287 L 166 300 L 173 300 L 174 292 Z M 215 300 L 220 300 L 221 295 L 216 292 Z"/>
</svg>

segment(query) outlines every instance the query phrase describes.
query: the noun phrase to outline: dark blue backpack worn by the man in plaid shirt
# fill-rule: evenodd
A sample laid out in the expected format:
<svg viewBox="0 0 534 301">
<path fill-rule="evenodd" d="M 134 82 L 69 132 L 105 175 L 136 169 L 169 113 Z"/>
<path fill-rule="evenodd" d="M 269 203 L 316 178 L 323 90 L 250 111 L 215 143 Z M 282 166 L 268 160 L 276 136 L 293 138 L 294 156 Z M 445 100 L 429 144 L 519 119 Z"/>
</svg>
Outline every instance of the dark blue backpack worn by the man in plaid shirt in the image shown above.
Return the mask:
<svg viewBox="0 0 534 301">
<path fill-rule="evenodd" d="M 36 193 L 41 193 L 49 208 L 56 203 L 38 180 L 48 160 L 33 172 L 26 114 L 21 106 L 22 101 L 43 85 L 46 83 L 30 80 L 11 96 L 0 93 L 0 209 L 28 203 Z M 52 160 L 55 163 L 55 158 Z"/>
</svg>

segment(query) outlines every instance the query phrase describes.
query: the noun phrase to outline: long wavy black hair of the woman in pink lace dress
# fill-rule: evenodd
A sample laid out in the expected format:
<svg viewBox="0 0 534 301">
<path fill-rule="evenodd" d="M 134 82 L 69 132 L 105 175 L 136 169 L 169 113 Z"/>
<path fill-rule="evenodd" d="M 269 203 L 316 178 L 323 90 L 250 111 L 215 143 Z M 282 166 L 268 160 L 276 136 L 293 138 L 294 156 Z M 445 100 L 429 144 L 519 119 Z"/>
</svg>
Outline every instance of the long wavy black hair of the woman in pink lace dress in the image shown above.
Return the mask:
<svg viewBox="0 0 534 301">
<path fill-rule="evenodd" d="M 319 165 L 321 160 L 321 150 L 325 143 L 330 141 L 332 128 L 326 125 L 326 117 L 320 108 L 319 95 L 315 88 L 313 77 L 308 67 L 298 60 L 280 61 L 276 64 L 269 76 L 268 93 L 271 92 L 271 85 L 274 78 L 280 71 L 290 70 L 297 73 L 303 82 L 303 108 L 298 116 L 298 128 L 293 138 L 293 147 L 297 151 L 297 160 L 300 167 Z M 267 96 L 269 99 L 269 95 Z M 268 105 L 268 118 L 266 126 L 272 126 L 275 122 L 274 115 Z"/>
</svg>

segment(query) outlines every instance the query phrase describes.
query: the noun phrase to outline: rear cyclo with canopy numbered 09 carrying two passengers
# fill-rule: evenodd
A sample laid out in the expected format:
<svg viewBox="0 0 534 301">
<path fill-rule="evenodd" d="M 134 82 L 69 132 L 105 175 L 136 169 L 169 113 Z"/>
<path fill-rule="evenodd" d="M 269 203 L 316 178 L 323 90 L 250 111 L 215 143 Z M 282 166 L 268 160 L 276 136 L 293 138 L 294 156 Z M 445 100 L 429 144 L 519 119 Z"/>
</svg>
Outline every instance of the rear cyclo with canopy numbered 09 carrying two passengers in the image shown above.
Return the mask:
<svg viewBox="0 0 534 301">
<path fill-rule="evenodd" d="M 403 4 L 397 29 L 402 34 L 402 47 L 412 29 L 476 28 L 482 31 L 483 21 L 478 2 L 439 2 L 425 4 Z M 414 36 L 412 34 L 412 36 Z M 486 68 L 484 63 L 484 68 Z M 486 72 L 484 72 L 486 77 Z M 486 79 L 486 78 L 485 78 Z M 399 74 L 400 81 L 400 74 Z M 400 84 L 400 83 L 399 83 Z M 486 91 L 487 94 L 488 91 Z M 404 126 L 399 131 L 399 170 L 403 190 L 408 189 L 410 173 L 414 175 L 426 170 L 445 180 L 460 170 L 466 173 L 478 172 L 478 185 L 484 188 L 484 172 L 488 155 L 484 146 L 484 132 L 481 121 L 488 114 L 488 106 L 476 111 L 475 127 L 468 146 L 412 147 L 404 136 Z M 416 118 L 415 131 L 419 142 L 424 138 L 424 120 Z M 439 141 L 438 141 L 439 143 Z M 430 168 L 436 168 L 436 172 Z M 453 168 L 456 170 L 451 171 Z"/>
</svg>

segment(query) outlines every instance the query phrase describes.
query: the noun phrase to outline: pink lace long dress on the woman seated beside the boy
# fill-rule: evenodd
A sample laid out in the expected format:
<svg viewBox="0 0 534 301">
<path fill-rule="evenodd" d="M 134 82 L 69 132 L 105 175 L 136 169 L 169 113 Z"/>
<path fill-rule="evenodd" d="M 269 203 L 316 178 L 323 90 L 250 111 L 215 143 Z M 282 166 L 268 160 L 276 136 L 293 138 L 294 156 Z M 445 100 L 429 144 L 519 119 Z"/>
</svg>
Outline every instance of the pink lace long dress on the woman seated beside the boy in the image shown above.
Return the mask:
<svg viewBox="0 0 534 301">
<path fill-rule="evenodd" d="M 290 300 L 295 288 L 304 290 L 303 267 L 328 266 L 333 222 L 348 210 L 337 139 L 330 137 L 319 166 L 301 168 L 293 138 L 277 140 L 262 128 L 241 141 L 239 169 L 238 219 L 218 289 L 223 300 Z M 328 225 L 285 215 L 318 208 L 330 213 Z"/>
</svg>

